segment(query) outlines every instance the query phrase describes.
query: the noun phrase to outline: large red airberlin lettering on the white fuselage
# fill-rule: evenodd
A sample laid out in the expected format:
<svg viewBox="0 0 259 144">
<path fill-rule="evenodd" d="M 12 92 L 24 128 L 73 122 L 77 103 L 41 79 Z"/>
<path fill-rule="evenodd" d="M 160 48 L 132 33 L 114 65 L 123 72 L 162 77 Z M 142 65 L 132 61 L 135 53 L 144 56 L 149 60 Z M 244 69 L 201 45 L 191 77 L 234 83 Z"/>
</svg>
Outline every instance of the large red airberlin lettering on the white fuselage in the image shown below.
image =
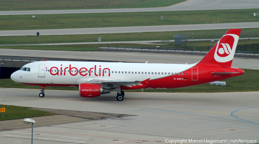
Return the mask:
<svg viewBox="0 0 259 144">
<path fill-rule="evenodd" d="M 50 74 L 52 75 L 66 75 L 67 72 L 69 72 L 70 75 L 72 76 L 76 76 L 77 74 L 80 74 L 81 76 L 91 76 L 91 74 L 94 73 L 95 76 L 110 76 L 110 69 L 109 68 L 104 68 L 102 69 L 101 66 L 99 66 L 99 70 L 96 70 L 96 65 L 93 68 L 90 68 L 89 70 L 87 68 L 76 68 L 76 67 L 72 67 L 71 64 L 69 65 L 69 67 L 65 67 L 63 68 L 62 65 L 60 65 L 61 67 L 51 67 L 49 69 Z M 47 71 L 47 67 L 46 67 L 46 71 Z"/>
</svg>

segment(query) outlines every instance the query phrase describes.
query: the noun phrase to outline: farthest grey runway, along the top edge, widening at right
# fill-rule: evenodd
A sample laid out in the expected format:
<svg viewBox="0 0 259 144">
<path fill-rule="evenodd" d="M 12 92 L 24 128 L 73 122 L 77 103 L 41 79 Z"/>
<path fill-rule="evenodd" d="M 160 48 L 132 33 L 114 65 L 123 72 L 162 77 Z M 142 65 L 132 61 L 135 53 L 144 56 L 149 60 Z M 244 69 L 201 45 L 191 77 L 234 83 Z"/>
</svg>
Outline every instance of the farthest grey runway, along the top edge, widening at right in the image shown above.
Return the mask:
<svg viewBox="0 0 259 144">
<path fill-rule="evenodd" d="M 115 6 L 111 6 L 115 7 Z M 145 12 L 145 11 L 184 11 L 211 9 L 257 9 L 258 0 L 188 0 L 169 7 L 128 8 L 128 9 L 76 9 L 76 10 L 36 10 L 36 11 L 0 11 L 0 15 L 28 14 L 77 14 L 77 13 L 112 13 L 112 12 Z M 252 14 L 251 14 L 252 15 Z"/>
</svg>

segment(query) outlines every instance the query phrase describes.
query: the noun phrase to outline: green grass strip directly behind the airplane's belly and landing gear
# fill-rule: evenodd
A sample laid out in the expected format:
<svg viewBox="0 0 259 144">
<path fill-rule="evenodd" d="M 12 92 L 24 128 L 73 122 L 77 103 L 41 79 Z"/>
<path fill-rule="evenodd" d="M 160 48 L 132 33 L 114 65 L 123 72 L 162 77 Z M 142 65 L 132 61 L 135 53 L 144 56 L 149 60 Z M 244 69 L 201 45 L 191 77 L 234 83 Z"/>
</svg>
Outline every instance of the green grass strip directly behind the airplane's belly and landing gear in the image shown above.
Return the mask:
<svg viewBox="0 0 259 144">
<path fill-rule="evenodd" d="M 177 89 L 144 89 L 144 92 L 168 92 L 168 93 L 214 93 L 214 92 L 237 92 L 237 91 L 259 91 L 259 70 L 244 69 L 245 74 L 233 78 L 223 80 L 226 86 L 216 85 L 197 85 L 192 87 L 184 87 Z M 11 79 L 0 79 L 0 87 L 24 88 L 24 89 L 40 89 L 38 86 L 29 86 L 16 83 Z M 47 89 L 57 90 L 79 90 L 71 87 L 46 87 Z M 134 92 L 142 92 L 142 90 L 128 90 Z M 125 90 L 127 92 L 127 90 Z"/>
</svg>

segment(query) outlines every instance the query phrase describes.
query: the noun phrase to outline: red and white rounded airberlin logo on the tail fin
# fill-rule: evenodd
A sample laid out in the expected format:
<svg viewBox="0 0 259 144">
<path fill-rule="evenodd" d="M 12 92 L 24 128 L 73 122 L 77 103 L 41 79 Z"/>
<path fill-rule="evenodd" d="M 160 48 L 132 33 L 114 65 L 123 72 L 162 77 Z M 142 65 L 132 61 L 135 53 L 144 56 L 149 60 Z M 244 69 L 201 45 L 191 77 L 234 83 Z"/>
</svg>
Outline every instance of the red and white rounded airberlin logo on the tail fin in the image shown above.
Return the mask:
<svg viewBox="0 0 259 144">
<path fill-rule="evenodd" d="M 236 34 L 226 34 L 216 45 L 214 59 L 217 62 L 229 62 L 233 59 L 237 47 L 239 36 Z"/>
</svg>

